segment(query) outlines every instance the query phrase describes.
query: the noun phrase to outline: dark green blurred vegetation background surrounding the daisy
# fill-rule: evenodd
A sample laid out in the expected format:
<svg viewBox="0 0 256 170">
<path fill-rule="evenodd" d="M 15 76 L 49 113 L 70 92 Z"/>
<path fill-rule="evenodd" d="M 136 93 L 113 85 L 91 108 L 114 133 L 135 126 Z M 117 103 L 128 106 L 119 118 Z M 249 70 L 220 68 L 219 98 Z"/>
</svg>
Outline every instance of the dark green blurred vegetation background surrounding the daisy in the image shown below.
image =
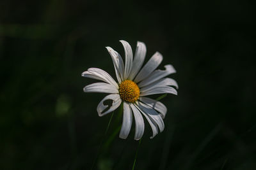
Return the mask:
<svg viewBox="0 0 256 170">
<path fill-rule="evenodd" d="M 89 67 L 115 77 L 104 46 L 147 45 L 173 64 L 166 128 L 135 169 L 256 169 L 255 3 L 250 1 L 1 1 L 0 169 L 90 169 L 110 114 L 84 94 Z M 108 136 L 121 120 L 114 114 Z M 131 169 L 138 141 L 113 138 L 99 169 Z M 106 139 L 106 141 L 109 139 Z"/>
</svg>

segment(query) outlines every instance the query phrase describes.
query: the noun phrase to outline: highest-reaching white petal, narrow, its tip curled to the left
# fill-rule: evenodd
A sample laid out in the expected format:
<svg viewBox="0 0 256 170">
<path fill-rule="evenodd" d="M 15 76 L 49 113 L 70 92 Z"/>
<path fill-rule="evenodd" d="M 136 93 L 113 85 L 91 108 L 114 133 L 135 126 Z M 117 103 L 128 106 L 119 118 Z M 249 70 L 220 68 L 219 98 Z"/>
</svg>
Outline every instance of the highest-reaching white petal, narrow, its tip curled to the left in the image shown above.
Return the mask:
<svg viewBox="0 0 256 170">
<path fill-rule="evenodd" d="M 120 40 L 122 45 L 124 46 L 124 52 L 125 52 L 125 70 L 124 70 L 124 80 L 126 80 L 131 73 L 132 69 L 132 48 L 127 41 Z"/>
</svg>

